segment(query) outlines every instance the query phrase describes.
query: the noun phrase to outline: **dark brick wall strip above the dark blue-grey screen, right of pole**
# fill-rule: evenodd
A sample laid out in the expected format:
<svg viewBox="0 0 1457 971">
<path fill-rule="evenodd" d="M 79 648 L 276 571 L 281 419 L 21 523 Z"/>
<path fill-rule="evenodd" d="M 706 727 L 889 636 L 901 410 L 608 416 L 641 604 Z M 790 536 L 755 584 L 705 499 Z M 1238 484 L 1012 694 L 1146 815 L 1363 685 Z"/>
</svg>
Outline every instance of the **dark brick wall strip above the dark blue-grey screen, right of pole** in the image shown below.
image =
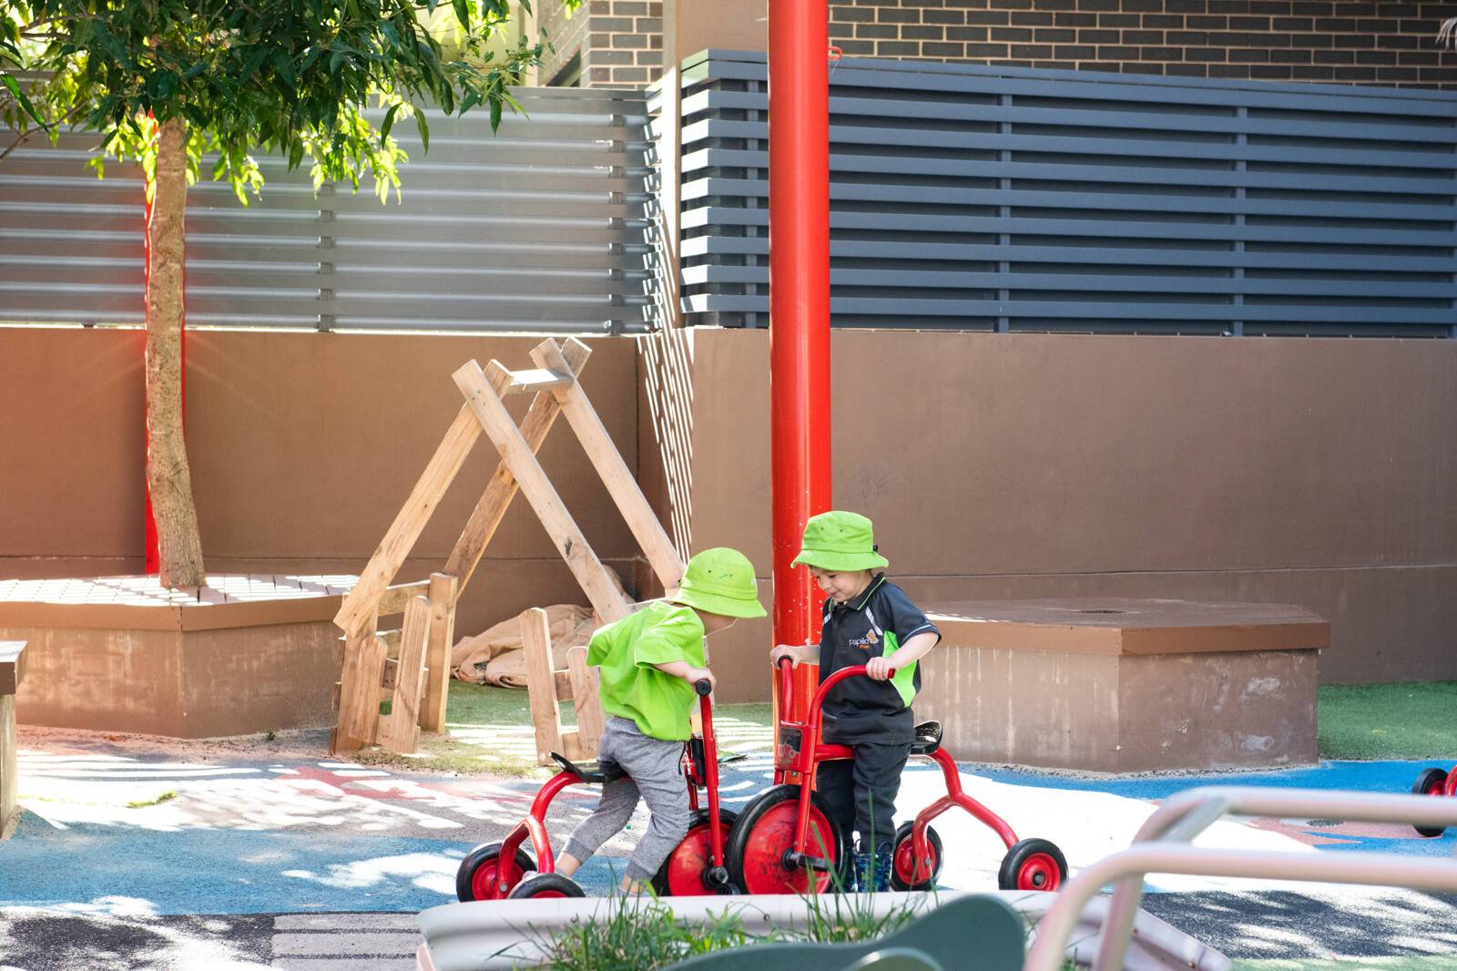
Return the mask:
<svg viewBox="0 0 1457 971">
<path fill-rule="evenodd" d="M 830 0 L 847 57 L 1457 87 L 1453 4 L 1400 0 Z"/>
</svg>

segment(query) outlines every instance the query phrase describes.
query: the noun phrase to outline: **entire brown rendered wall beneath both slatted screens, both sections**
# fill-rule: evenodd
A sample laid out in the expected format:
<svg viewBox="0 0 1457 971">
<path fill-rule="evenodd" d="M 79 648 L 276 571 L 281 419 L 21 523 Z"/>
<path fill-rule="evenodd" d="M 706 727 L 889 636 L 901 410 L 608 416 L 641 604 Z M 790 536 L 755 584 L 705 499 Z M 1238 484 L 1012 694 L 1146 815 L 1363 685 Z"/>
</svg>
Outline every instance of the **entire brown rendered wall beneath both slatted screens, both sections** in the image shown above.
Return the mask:
<svg viewBox="0 0 1457 971">
<path fill-rule="evenodd" d="M 538 340 L 191 334 L 210 569 L 357 572 L 456 411 L 450 372 Z M 589 343 L 584 385 L 664 522 L 743 548 L 768 601 L 766 332 Z M 136 331 L 0 328 L 0 577 L 140 570 L 140 353 Z M 1332 621 L 1321 681 L 1457 676 L 1457 343 L 836 331 L 833 354 L 835 502 L 918 599 L 1303 604 Z M 565 426 L 542 456 L 631 583 Z M 490 461 L 401 579 L 444 561 Z M 552 602 L 581 596 L 513 503 L 457 630 Z M 714 640 L 726 700 L 765 697 L 768 637 Z"/>
</svg>

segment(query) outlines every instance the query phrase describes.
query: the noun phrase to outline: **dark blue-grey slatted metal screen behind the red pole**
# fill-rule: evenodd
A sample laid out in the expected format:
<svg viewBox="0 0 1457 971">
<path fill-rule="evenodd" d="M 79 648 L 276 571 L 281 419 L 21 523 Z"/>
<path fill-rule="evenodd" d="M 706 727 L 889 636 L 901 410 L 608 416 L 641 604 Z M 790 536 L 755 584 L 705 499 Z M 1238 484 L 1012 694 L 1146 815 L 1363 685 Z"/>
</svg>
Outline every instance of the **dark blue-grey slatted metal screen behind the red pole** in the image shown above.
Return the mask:
<svg viewBox="0 0 1457 971">
<path fill-rule="evenodd" d="M 685 64 L 689 324 L 768 322 L 762 54 Z M 1457 95 L 830 70 L 836 327 L 1450 337 Z"/>
</svg>

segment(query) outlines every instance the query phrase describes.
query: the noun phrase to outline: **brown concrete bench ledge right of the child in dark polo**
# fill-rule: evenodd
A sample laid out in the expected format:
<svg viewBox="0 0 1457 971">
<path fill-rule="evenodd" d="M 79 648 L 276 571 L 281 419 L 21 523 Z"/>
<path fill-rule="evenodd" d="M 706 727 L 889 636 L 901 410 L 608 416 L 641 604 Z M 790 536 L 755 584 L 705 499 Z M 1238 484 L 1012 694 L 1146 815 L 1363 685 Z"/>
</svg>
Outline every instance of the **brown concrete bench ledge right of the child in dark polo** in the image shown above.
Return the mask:
<svg viewBox="0 0 1457 971">
<path fill-rule="evenodd" d="M 918 717 L 959 760 L 1100 773 L 1316 761 L 1330 624 L 1288 604 L 928 605 L 944 640 Z"/>
</svg>

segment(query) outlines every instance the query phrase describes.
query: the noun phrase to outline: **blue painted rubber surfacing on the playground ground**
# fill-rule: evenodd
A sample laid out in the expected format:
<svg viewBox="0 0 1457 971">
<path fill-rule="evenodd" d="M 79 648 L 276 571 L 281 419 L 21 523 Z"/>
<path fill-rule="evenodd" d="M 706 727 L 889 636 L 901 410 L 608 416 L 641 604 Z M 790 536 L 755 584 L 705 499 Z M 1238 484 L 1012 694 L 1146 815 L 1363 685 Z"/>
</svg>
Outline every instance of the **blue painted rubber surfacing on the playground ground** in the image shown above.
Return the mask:
<svg viewBox="0 0 1457 971">
<path fill-rule="evenodd" d="M 1157 800 L 1208 784 L 1407 792 L 1428 763 L 1326 763 L 1279 773 L 1072 779 L 1048 773 L 966 767 L 997 781 L 1064 790 L 1107 792 Z M 761 773 L 726 773 L 726 784 Z M 514 787 L 514 786 L 513 786 Z M 535 789 L 530 783 L 523 790 Z M 747 787 L 745 787 L 747 789 Z M 747 792 L 740 789 L 740 798 Z M 495 834 L 466 830 L 476 838 Z M 1324 835 L 1310 828 L 1311 835 Z M 441 834 L 444 835 L 444 832 Z M 157 831 L 141 827 L 71 824 L 58 830 L 26 814 L 0 849 L 0 907 L 109 907 L 144 901 L 157 914 L 256 914 L 300 911 L 418 911 L 455 898 L 455 870 L 474 841 L 334 830 Z M 555 834 L 554 834 L 555 835 Z M 1421 856 L 1448 854 L 1457 832 L 1438 840 L 1340 835 L 1321 850 L 1380 849 Z M 578 873 L 581 886 L 605 894 L 625 860 L 594 857 Z"/>
</svg>

